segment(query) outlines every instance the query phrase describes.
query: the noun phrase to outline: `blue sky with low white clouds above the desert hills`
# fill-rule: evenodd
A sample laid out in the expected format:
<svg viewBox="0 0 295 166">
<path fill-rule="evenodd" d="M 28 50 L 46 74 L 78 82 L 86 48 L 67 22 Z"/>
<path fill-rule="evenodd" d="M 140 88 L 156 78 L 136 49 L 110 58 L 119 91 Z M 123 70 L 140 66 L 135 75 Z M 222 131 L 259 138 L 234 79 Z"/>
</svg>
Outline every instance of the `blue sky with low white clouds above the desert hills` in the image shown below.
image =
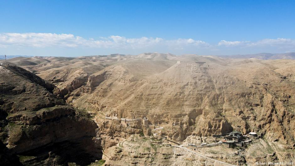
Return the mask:
<svg viewBox="0 0 295 166">
<path fill-rule="evenodd" d="M 295 51 L 295 1 L 1 1 L 0 55 Z"/>
</svg>

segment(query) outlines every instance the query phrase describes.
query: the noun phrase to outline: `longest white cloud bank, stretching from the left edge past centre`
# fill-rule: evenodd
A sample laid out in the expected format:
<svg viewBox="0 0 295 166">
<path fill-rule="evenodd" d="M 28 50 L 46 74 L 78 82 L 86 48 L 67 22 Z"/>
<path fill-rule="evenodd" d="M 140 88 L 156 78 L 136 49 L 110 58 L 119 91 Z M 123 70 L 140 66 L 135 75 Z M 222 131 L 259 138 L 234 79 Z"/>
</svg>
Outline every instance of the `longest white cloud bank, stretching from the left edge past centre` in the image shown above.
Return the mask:
<svg viewBox="0 0 295 166">
<path fill-rule="evenodd" d="M 147 48 L 161 46 L 209 46 L 208 43 L 193 39 L 164 40 L 162 38 L 126 38 L 123 36 L 99 37 L 100 40 L 84 39 L 72 34 L 52 33 L 2 33 L 0 46 L 24 47 L 97 47 L 97 48 Z"/>
</svg>

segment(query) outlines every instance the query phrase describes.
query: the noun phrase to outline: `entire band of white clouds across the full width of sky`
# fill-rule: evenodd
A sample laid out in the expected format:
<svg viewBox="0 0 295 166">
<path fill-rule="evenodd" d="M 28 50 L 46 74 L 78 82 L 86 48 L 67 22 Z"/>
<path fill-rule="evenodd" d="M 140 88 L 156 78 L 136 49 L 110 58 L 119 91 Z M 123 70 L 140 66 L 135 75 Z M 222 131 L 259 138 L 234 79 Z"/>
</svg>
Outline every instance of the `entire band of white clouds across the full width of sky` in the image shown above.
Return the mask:
<svg viewBox="0 0 295 166">
<path fill-rule="evenodd" d="M 295 49 L 295 40 L 292 39 L 262 39 L 258 41 L 226 41 L 221 40 L 217 45 L 209 44 L 205 41 L 194 39 L 175 39 L 165 40 L 163 38 L 126 38 L 123 36 L 99 37 L 99 40 L 94 38 L 84 39 L 80 36 L 72 34 L 52 34 L 52 33 L 0 33 L 0 48 L 16 46 L 17 48 L 44 48 L 44 47 L 60 47 L 60 48 L 103 48 L 103 49 L 126 49 L 126 50 L 196 50 L 222 51 L 228 50 L 227 47 L 248 48 L 255 47 L 256 49 L 263 48 L 280 49 L 290 51 Z"/>
</svg>

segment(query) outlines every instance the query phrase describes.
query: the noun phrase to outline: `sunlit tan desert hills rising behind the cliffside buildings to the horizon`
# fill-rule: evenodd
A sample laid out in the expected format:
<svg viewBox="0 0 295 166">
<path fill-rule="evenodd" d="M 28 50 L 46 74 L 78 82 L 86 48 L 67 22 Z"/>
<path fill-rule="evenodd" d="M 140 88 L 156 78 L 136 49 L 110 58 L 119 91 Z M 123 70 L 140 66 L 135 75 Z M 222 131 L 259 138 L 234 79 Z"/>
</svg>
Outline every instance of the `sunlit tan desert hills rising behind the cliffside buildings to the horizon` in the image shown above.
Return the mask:
<svg viewBox="0 0 295 166">
<path fill-rule="evenodd" d="M 37 64 L 22 66 L 22 60 Z M 88 111 L 107 155 L 117 156 L 108 149 L 124 139 L 151 134 L 140 124 L 124 126 L 105 119 L 117 114 L 166 125 L 161 134 L 180 143 L 189 137 L 204 141 L 212 134 L 254 131 L 264 153 L 256 154 L 252 146 L 239 162 L 255 163 L 270 155 L 294 161 L 295 60 L 144 53 L 9 62 L 56 86 L 56 95 L 67 104 Z M 181 126 L 172 127 L 173 122 Z"/>
</svg>

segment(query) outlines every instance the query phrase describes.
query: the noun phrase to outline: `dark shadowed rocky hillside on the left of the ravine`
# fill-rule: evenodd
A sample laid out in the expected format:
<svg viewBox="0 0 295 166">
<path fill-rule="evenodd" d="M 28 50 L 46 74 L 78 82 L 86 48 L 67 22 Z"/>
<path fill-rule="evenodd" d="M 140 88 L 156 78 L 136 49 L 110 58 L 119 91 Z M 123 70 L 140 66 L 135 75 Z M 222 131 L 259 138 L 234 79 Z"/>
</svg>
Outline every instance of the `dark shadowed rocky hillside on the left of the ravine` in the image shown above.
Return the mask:
<svg viewBox="0 0 295 166">
<path fill-rule="evenodd" d="M 12 65 L 0 68 L 0 85 L 0 139 L 5 147 L 0 165 L 87 165 L 101 158 L 98 126 L 88 113 L 56 97 L 54 85 Z"/>
</svg>

